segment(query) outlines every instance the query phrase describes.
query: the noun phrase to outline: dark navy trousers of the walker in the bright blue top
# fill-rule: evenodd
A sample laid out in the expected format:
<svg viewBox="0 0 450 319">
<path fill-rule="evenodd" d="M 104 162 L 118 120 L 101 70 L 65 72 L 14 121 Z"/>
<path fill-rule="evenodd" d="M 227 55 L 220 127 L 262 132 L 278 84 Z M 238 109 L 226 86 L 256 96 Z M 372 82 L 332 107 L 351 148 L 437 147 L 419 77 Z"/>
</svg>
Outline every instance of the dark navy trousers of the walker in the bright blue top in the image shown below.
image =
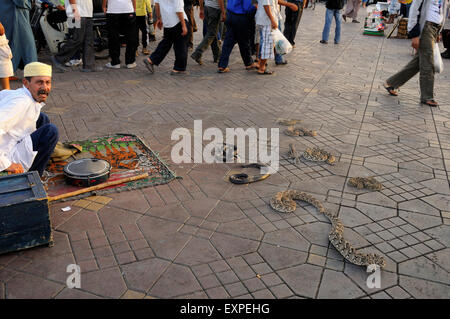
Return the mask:
<svg viewBox="0 0 450 319">
<path fill-rule="evenodd" d="M 222 45 L 219 68 L 228 66 L 231 51 L 236 43 L 239 45 L 239 51 L 245 66 L 250 66 L 253 63 L 250 50 L 251 16 L 249 14 L 235 14 L 227 11 L 225 26 L 227 33 Z"/>
</svg>

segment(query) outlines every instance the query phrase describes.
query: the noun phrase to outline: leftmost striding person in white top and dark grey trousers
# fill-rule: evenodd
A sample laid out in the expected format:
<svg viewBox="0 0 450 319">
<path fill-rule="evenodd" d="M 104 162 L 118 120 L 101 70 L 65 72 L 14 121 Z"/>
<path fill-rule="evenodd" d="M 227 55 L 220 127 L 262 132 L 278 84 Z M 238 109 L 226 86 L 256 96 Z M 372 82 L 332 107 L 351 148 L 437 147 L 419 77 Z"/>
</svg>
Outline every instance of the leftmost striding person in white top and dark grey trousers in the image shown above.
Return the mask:
<svg viewBox="0 0 450 319">
<path fill-rule="evenodd" d="M 51 57 L 53 65 L 61 72 L 67 71 L 64 64 L 80 51 L 83 52 L 83 72 L 102 70 L 95 66 L 92 12 L 92 0 L 66 0 L 69 39 L 61 50 Z"/>
</svg>

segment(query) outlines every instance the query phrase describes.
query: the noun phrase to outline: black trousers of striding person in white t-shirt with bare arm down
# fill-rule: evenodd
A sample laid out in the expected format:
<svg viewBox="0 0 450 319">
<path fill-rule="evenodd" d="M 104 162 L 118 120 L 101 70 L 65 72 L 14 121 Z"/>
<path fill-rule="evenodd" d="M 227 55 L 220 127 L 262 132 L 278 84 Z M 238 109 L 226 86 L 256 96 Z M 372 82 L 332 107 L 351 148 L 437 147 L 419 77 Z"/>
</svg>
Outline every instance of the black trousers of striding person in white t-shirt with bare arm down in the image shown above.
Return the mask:
<svg viewBox="0 0 450 319">
<path fill-rule="evenodd" d="M 189 30 L 189 22 L 186 20 L 185 22 L 186 28 Z M 156 50 L 150 55 L 150 60 L 152 60 L 154 65 L 159 65 L 164 60 L 173 45 L 175 52 L 173 69 L 176 71 L 186 71 L 189 32 L 185 36 L 182 36 L 181 32 L 181 22 L 172 28 L 164 28 L 163 39 L 159 42 Z"/>
</svg>

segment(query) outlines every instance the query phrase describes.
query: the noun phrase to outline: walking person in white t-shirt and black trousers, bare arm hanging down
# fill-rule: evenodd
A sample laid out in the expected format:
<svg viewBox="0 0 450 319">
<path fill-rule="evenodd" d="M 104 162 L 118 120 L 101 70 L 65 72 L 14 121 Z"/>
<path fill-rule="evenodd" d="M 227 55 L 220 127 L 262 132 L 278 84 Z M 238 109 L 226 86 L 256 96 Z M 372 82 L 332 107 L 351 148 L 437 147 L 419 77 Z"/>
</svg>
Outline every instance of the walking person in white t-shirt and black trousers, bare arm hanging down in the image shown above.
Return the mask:
<svg viewBox="0 0 450 319">
<path fill-rule="evenodd" d="M 164 35 L 158 47 L 144 60 L 147 69 L 154 73 L 154 65 L 159 65 L 173 46 L 175 63 L 170 74 L 179 75 L 186 73 L 188 55 L 188 25 L 184 12 L 183 0 L 155 0 L 157 16 L 156 26 L 162 29 Z"/>
</svg>

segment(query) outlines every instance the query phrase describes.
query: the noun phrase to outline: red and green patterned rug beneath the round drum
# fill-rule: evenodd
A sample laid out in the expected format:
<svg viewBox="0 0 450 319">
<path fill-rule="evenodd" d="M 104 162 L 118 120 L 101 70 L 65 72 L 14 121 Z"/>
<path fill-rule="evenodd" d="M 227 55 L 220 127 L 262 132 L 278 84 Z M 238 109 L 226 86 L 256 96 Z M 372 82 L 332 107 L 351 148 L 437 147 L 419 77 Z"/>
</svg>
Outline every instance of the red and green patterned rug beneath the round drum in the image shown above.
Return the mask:
<svg viewBox="0 0 450 319">
<path fill-rule="evenodd" d="M 152 151 L 135 135 L 114 134 L 65 144 L 78 144 L 83 148 L 83 151 L 75 154 L 68 160 L 49 164 L 47 167 L 48 176 L 45 176 L 44 182 L 48 196 L 57 196 L 81 189 L 77 186 L 68 185 L 64 181 L 63 175 L 64 165 L 81 158 L 107 160 L 111 164 L 111 174 L 108 182 L 143 173 L 148 173 L 149 177 L 69 197 L 61 201 L 166 184 L 175 178 L 179 178 L 159 158 L 157 153 Z"/>
</svg>

